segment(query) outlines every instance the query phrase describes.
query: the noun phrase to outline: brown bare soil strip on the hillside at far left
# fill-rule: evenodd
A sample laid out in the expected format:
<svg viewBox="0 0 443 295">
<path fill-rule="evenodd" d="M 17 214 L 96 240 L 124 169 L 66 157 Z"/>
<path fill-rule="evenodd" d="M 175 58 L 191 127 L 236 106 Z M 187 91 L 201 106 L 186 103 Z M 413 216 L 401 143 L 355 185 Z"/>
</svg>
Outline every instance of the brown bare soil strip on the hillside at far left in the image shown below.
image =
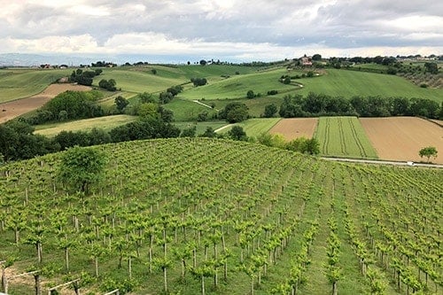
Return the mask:
<svg viewBox="0 0 443 295">
<path fill-rule="evenodd" d="M 0 123 L 4 123 L 7 120 L 12 120 L 24 113 L 34 111 L 66 90 L 88 91 L 90 89 L 91 88 L 89 86 L 83 85 L 51 84 L 41 93 L 36 94 L 35 96 L 0 104 Z"/>
</svg>

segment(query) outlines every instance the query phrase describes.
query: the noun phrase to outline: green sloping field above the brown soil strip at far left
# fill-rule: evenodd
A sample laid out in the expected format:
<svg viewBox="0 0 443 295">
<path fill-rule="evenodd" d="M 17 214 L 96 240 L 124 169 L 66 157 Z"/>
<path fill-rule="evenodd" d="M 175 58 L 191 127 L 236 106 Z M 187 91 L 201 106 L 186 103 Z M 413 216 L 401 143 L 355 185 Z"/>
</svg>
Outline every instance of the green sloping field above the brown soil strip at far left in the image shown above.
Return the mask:
<svg viewBox="0 0 443 295">
<path fill-rule="evenodd" d="M 38 94 L 71 73 L 72 69 L 0 69 L 0 103 Z"/>
</svg>

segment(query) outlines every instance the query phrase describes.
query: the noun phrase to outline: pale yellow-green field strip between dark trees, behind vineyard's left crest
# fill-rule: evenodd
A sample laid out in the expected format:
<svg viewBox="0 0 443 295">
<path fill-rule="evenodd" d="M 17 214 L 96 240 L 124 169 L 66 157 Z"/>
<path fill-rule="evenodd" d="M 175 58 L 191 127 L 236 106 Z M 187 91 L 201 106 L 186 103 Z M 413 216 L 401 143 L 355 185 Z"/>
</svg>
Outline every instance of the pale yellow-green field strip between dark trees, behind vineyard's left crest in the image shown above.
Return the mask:
<svg viewBox="0 0 443 295">
<path fill-rule="evenodd" d="M 35 126 L 35 134 L 57 136 L 61 131 L 90 131 L 92 128 L 103 128 L 109 131 L 120 125 L 135 121 L 137 117 L 128 115 L 105 116 L 92 119 L 74 120 L 65 123 L 51 123 Z"/>
</svg>

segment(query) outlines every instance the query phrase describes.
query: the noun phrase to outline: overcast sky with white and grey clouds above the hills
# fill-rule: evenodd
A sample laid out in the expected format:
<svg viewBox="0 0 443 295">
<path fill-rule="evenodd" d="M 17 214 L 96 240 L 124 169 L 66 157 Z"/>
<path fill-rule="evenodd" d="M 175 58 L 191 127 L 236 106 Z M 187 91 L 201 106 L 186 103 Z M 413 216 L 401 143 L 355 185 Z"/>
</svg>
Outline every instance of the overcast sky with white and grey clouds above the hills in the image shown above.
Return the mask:
<svg viewBox="0 0 443 295">
<path fill-rule="evenodd" d="M 0 0 L 0 53 L 276 60 L 443 54 L 443 1 Z"/>
</svg>

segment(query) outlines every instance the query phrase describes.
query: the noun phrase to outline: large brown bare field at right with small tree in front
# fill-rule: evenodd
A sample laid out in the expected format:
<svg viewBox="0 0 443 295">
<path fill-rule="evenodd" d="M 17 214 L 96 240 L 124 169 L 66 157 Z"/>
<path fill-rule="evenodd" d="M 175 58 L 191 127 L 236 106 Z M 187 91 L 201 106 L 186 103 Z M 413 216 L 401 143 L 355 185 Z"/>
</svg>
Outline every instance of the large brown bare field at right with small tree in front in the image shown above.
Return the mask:
<svg viewBox="0 0 443 295">
<path fill-rule="evenodd" d="M 361 125 L 380 159 L 426 161 L 418 156 L 425 146 L 439 151 L 433 163 L 443 164 L 443 128 L 428 120 L 412 117 L 361 118 Z"/>
</svg>

